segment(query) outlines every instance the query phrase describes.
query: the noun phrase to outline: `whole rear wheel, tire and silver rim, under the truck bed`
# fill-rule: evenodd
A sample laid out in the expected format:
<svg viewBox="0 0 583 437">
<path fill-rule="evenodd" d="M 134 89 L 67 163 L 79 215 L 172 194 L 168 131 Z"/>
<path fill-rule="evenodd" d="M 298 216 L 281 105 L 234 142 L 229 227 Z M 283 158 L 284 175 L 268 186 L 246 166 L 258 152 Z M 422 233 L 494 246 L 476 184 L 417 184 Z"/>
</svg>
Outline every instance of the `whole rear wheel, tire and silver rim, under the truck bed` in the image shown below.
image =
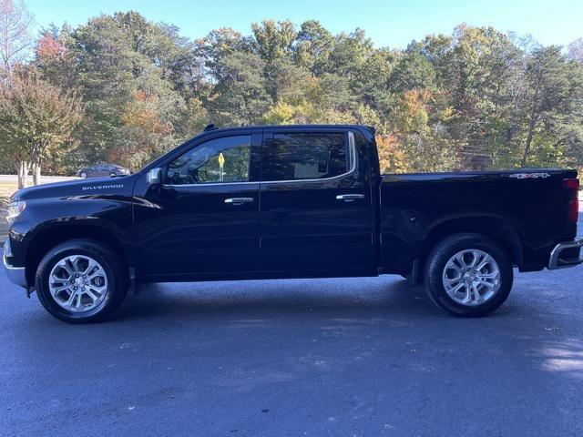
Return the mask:
<svg viewBox="0 0 583 437">
<path fill-rule="evenodd" d="M 425 265 L 425 290 L 451 314 L 480 317 L 504 303 L 514 276 L 512 260 L 496 241 L 455 234 L 439 242 Z"/>
</svg>

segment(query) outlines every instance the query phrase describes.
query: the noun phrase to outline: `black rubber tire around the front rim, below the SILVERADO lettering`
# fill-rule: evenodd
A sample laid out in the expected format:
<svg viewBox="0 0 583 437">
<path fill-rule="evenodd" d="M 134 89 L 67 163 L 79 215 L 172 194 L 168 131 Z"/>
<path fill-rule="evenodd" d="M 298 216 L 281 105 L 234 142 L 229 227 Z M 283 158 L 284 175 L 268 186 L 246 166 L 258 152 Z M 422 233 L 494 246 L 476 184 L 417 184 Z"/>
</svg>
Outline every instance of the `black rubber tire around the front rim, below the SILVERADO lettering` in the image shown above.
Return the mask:
<svg viewBox="0 0 583 437">
<path fill-rule="evenodd" d="M 107 275 L 105 298 L 92 310 L 75 312 L 60 306 L 51 295 L 49 275 L 61 259 L 80 255 L 95 259 Z M 91 239 L 71 239 L 50 249 L 36 269 L 36 294 L 45 309 L 56 319 L 70 323 L 90 323 L 106 320 L 121 305 L 128 294 L 128 273 L 125 262 L 114 250 Z M 80 299 L 80 298 L 79 298 Z"/>
</svg>

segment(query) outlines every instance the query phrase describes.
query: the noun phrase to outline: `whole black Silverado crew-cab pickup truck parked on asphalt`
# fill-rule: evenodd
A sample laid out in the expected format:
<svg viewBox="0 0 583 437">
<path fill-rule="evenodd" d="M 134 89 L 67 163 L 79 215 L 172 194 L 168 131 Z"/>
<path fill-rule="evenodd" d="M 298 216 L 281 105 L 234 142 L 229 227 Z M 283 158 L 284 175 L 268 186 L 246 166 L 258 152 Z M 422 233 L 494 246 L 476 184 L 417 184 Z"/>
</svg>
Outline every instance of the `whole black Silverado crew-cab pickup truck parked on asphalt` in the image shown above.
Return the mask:
<svg viewBox="0 0 583 437">
<path fill-rule="evenodd" d="M 147 282 L 381 274 L 482 316 L 514 267 L 583 261 L 577 196 L 575 170 L 381 175 L 372 127 L 208 127 L 131 176 L 16 192 L 4 263 L 71 322 Z"/>
</svg>

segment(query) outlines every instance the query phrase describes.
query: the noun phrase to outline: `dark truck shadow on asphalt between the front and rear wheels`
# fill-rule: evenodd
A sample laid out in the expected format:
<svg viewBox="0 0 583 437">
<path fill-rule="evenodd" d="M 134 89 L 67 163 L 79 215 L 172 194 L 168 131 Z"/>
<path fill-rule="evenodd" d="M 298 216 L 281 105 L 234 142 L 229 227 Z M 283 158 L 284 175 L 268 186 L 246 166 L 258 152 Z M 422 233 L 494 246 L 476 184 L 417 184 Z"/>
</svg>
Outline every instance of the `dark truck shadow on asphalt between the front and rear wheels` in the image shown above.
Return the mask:
<svg viewBox="0 0 583 437">
<path fill-rule="evenodd" d="M 273 279 L 149 284 L 128 295 L 116 320 L 224 317 L 254 313 L 281 317 L 353 313 L 359 317 L 416 315 L 448 317 L 432 307 L 421 287 L 404 279 Z"/>
</svg>

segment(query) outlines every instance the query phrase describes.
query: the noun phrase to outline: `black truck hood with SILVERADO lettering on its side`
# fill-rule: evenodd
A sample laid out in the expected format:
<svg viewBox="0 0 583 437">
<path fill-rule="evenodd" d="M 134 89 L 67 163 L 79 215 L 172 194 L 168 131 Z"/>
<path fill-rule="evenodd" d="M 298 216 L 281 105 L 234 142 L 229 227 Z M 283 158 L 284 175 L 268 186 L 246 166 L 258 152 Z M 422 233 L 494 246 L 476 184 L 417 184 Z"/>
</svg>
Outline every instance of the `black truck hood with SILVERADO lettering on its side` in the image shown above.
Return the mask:
<svg viewBox="0 0 583 437">
<path fill-rule="evenodd" d="M 96 194 L 121 194 L 133 188 L 138 173 L 118 178 L 90 178 L 66 182 L 53 182 L 19 189 L 13 199 L 55 198 L 69 196 L 89 196 Z"/>
</svg>

